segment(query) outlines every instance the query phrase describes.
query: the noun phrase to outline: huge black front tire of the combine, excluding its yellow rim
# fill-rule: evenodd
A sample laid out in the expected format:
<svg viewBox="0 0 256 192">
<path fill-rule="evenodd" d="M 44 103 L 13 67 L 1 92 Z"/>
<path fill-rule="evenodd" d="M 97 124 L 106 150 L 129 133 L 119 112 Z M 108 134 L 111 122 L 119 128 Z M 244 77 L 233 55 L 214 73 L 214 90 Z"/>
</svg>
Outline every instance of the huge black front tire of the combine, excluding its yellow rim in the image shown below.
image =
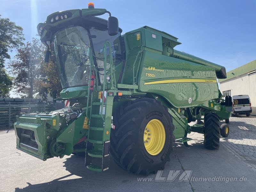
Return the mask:
<svg viewBox="0 0 256 192">
<path fill-rule="evenodd" d="M 136 174 L 156 173 L 170 161 L 172 150 L 172 117 L 157 100 L 142 98 L 121 106 L 113 114 L 115 130 L 110 135 L 110 153 L 121 167 Z M 165 143 L 161 152 L 150 155 L 144 146 L 144 130 L 148 122 L 158 119 L 164 125 Z"/>
</svg>

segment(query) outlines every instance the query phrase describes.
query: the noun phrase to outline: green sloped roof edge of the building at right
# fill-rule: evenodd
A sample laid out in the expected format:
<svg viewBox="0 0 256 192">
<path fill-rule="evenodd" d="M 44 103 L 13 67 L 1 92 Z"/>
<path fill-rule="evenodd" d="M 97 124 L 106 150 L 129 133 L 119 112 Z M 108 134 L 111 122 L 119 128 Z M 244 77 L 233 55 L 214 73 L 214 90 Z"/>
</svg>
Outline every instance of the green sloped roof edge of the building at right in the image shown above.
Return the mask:
<svg viewBox="0 0 256 192">
<path fill-rule="evenodd" d="M 245 73 L 249 73 L 254 70 L 256 70 L 256 60 L 253 60 L 250 63 L 244 64 L 238 68 L 228 71 L 227 78 L 226 79 L 218 79 L 218 81 L 220 83 L 220 82 L 226 81 L 228 79 L 243 75 Z"/>
</svg>

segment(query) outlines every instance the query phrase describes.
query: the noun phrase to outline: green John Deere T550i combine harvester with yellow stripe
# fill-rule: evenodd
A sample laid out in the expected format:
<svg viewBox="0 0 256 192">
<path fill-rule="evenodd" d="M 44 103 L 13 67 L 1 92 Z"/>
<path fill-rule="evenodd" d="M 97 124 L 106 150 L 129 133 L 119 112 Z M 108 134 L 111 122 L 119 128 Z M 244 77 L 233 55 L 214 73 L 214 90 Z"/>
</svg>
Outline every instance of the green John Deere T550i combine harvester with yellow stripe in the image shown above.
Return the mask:
<svg viewBox="0 0 256 192">
<path fill-rule="evenodd" d="M 108 21 L 96 17 L 105 13 Z M 127 171 L 149 174 L 164 169 L 173 142 L 188 146 L 188 133 L 219 148 L 219 121 L 232 110 L 217 84 L 224 67 L 174 50 L 176 37 L 148 26 L 121 35 L 117 18 L 92 3 L 52 13 L 37 30 L 71 107 L 17 117 L 21 151 L 43 161 L 85 155 L 97 172 L 109 169 L 111 154 Z"/>
</svg>

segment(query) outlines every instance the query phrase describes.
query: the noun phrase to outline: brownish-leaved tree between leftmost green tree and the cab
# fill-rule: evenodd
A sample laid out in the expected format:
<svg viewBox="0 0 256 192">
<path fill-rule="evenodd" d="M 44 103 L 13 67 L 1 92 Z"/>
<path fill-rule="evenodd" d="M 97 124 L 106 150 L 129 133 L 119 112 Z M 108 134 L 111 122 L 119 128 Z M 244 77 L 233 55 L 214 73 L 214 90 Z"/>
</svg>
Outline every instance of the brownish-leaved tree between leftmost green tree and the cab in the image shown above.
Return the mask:
<svg viewBox="0 0 256 192">
<path fill-rule="evenodd" d="M 15 59 L 11 60 L 9 67 L 14 76 L 15 92 L 22 98 L 33 98 L 39 90 L 42 78 L 45 46 L 39 39 L 33 38 L 17 50 Z"/>
</svg>

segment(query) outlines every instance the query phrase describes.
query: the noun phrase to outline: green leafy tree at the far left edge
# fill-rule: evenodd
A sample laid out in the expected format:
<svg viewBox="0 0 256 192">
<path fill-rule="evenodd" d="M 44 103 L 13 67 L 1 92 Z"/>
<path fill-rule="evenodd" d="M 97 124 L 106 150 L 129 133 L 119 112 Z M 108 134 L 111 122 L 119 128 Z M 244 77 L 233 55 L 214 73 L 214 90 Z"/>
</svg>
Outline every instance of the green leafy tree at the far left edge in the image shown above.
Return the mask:
<svg viewBox="0 0 256 192">
<path fill-rule="evenodd" d="M 10 59 L 8 52 L 20 47 L 23 40 L 23 29 L 0 15 L 0 97 L 8 97 L 12 87 L 12 78 L 4 69 L 5 60 Z"/>
</svg>

